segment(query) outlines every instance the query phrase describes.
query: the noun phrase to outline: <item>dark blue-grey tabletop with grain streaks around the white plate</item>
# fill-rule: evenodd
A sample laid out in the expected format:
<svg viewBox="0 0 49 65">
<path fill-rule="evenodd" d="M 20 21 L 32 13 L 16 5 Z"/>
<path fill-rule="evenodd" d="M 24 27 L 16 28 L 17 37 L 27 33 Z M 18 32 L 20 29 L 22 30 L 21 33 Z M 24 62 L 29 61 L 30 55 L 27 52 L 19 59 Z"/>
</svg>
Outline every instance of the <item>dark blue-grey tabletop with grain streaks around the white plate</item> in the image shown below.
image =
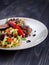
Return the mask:
<svg viewBox="0 0 49 65">
<path fill-rule="evenodd" d="M 0 4 L 0 19 L 14 16 L 30 17 L 43 22 L 49 30 L 48 0 L 3 0 L 0 2 L 4 2 L 4 5 Z M 49 35 L 41 44 L 30 49 L 0 50 L 0 65 L 49 65 Z"/>
</svg>

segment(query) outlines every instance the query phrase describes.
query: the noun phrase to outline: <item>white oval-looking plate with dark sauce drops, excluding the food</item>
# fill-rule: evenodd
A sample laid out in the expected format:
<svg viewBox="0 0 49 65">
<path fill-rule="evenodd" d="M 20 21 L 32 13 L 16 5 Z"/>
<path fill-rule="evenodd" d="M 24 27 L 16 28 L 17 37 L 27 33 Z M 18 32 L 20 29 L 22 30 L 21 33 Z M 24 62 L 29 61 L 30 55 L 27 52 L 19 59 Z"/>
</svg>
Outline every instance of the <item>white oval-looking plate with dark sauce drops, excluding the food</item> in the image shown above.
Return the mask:
<svg viewBox="0 0 49 65">
<path fill-rule="evenodd" d="M 15 48 L 0 48 L 2 50 L 21 50 L 21 49 L 27 49 L 30 47 L 34 47 L 38 44 L 40 44 L 42 41 L 44 41 L 48 35 L 48 29 L 47 27 L 41 23 L 38 20 L 32 19 L 32 18 L 24 18 L 24 17 L 12 17 L 12 18 L 20 18 L 24 19 L 26 22 L 26 25 L 29 25 L 32 28 L 31 36 L 26 38 L 27 40 L 31 40 L 31 42 L 27 43 L 26 41 L 22 41 L 22 45 L 15 47 Z M 10 19 L 10 18 L 8 18 Z M 0 20 L 0 25 L 4 24 L 6 22 L 6 19 Z M 36 30 L 36 32 L 34 32 Z M 33 37 L 33 34 L 36 34 L 36 36 Z"/>
</svg>

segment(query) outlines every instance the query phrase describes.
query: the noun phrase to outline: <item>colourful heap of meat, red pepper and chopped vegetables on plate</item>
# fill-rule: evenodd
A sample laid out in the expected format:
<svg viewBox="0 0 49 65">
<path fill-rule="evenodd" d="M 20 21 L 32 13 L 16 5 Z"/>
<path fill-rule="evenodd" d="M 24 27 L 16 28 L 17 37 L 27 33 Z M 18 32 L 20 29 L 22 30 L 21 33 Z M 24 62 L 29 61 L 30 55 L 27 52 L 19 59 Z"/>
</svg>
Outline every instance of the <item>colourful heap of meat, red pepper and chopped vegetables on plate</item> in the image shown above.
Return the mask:
<svg viewBox="0 0 49 65">
<path fill-rule="evenodd" d="M 30 35 L 32 29 L 22 19 L 10 19 L 0 25 L 0 47 L 13 48 L 21 45 L 21 41 Z"/>
</svg>

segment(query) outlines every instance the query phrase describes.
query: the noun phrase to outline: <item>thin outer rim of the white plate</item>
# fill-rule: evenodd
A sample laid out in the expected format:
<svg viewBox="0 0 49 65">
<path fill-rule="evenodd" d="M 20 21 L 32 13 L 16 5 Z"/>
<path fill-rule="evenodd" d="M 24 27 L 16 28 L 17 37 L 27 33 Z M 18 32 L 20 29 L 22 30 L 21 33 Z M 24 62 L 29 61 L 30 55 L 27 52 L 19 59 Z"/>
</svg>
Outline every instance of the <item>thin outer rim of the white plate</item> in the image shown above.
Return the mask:
<svg viewBox="0 0 49 65">
<path fill-rule="evenodd" d="M 42 43 L 43 41 L 45 41 L 45 39 L 47 38 L 47 36 L 48 36 L 48 28 L 46 27 L 46 25 L 45 25 L 43 22 L 41 22 L 41 21 L 39 21 L 39 20 L 36 20 L 36 19 L 34 19 L 34 18 L 28 18 L 28 17 L 9 17 L 8 19 L 10 19 L 10 18 L 32 19 L 32 20 L 37 21 L 37 22 L 41 23 L 42 25 L 44 25 L 45 28 L 46 28 L 47 34 L 46 34 L 45 38 L 44 38 L 41 42 L 38 42 L 37 45 L 41 44 L 41 43 Z M 6 18 L 5 18 L 5 19 L 6 19 Z M 5 19 L 1 19 L 1 20 L 5 20 Z M 0 20 L 0 21 L 1 21 L 1 20 Z M 32 46 L 32 47 L 35 47 L 35 46 L 37 46 L 37 45 L 34 45 L 34 46 Z M 1 50 L 23 50 L 23 49 L 28 49 L 28 48 L 32 48 L 32 47 L 21 48 L 21 49 L 17 49 L 17 48 L 0 48 L 0 49 L 1 49 Z"/>
</svg>

